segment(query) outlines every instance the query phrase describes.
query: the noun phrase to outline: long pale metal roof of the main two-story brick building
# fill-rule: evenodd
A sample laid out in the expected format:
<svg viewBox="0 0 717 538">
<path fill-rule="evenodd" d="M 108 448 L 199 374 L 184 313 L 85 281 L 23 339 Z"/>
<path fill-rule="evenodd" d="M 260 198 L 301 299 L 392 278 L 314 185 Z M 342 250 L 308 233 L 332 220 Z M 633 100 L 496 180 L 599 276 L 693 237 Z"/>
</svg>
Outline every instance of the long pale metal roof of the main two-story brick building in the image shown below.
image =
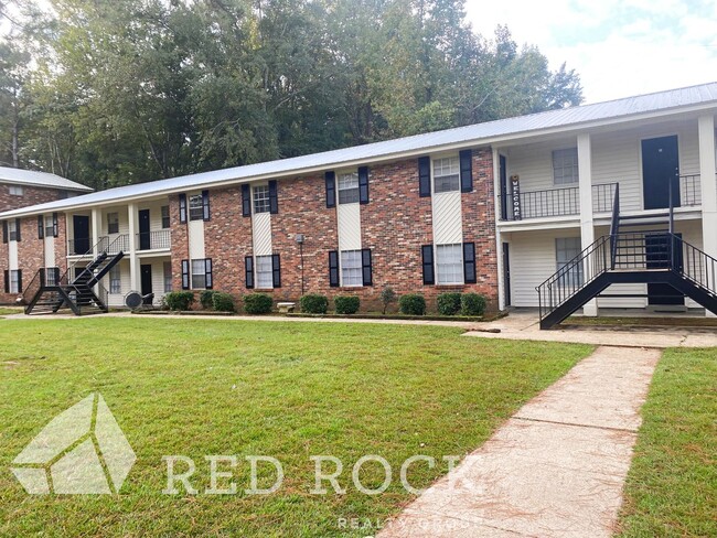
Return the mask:
<svg viewBox="0 0 717 538">
<path fill-rule="evenodd" d="M 437 151 L 441 148 L 485 146 L 524 136 L 537 136 L 543 131 L 589 127 L 604 122 L 629 121 L 639 118 L 641 115 L 670 114 L 682 111 L 682 109 L 692 107 L 699 108 L 709 105 L 717 105 L 717 83 L 488 121 L 291 159 L 126 185 L 69 200 L 13 209 L 0 214 L 0 218 L 150 197 L 152 195 L 163 195 L 218 184 L 243 183 L 260 177 L 300 175 L 322 169 L 353 165 L 361 162 L 376 162 L 392 158 L 419 154 L 429 150 Z"/>
</svg>

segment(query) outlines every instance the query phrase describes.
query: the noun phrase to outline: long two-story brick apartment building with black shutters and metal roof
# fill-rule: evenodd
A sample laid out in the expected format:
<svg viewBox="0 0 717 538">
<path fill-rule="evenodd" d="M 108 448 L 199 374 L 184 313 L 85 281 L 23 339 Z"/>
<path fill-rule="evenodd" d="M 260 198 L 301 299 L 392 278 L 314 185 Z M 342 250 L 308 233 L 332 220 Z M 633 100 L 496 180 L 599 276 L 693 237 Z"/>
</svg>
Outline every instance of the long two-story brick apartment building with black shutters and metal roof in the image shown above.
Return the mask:
<svg viewBox="0 0 717 538">
<path fill-rule="evenodd" d="M 716 114 L 717 83 L 6 212 L 0 219 L 21 240 L 0 248 L 4 299 L 17 297 L 13 270 L 60 273 L 121 249 L 125 258 L 103 279 L 116 305 L 130 290 L 213 288 L 277 300 L 354 293 L 375 308 L 390 286 L 429 301 L 456 290 L 484 293 L 493 309 L 536 306 L 536 287 L 558 270 L 550 293 L 559 301 L 599 283 L 604 265 L 596 272 L 593 254 L 576 256 L 591 246 L 604 254 L 599 238 L 614 229 L 616 197 L 622 229 L 634 234 L 608 255 L 630 254 L 630 269 L 640 266 L 648 278 L 661 267 L 666 237 L 652 233 L 673 226 L 687 272 L 687 255 L 717 256 Z M 705 293 L 715 289 L 710 259 L 699 258 L 708 269 L 693 278 Z M 612 284 L 585 312 L 697 306 L 671 290 L 656 281 Z"/>
</svg>

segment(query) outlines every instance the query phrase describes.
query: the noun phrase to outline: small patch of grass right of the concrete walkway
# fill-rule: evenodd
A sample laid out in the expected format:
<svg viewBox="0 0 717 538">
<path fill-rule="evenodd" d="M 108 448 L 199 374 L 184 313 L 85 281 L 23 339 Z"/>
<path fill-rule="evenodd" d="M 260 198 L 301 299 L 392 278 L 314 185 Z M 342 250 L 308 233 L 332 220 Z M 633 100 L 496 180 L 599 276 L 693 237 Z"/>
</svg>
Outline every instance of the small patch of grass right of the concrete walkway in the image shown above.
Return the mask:
<svg viewBox="0 0 717 538">
<path fill-rule="evenodd" d="M 667 349 L 642 415 L 619 536 L 717 536 L 715 348 Z"/>
</svg>

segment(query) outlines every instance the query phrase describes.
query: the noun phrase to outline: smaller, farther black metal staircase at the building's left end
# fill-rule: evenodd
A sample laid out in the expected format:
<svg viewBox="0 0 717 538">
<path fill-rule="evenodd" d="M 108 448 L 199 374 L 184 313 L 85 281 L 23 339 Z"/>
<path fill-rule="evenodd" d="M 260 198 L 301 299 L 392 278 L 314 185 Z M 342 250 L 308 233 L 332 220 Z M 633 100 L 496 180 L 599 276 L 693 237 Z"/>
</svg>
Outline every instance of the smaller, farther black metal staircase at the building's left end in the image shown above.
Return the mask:
<svg viewBox="0 0 717 538">
<path fill-rule="evenodd" d="M 101 250 L 97 250 L 99 246 Z M 93 259 L 95 250 L 98 255 Z M 77 267 L 77 261 L 62 277 L 56 267 L 40 269 L 23 293 L 25 314 L 53 314 L 64 309 L 75 315 L 107 312 L 107 291 L 101 279 L 125 257 L 121 250 L 108 254 L 114 250 L 113 245 L 100 241 L 81 257 L 81 260 L 90 257 L 87 266 Z"/>
</svg>

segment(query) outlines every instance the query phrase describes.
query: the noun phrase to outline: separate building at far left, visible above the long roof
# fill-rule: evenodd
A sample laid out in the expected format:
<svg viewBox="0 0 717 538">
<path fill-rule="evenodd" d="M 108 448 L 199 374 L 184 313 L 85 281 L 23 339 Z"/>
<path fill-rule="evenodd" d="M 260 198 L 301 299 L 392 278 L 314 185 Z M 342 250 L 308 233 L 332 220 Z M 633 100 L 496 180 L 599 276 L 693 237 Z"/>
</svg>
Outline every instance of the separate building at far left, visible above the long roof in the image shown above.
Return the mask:
<svg viewBox="0 0 717 538">
<path fill-rule="evenodd" d="M 0 212 L 64 200 L 93 190 L 55 174 L 0 166 Z"/>
</svg>

